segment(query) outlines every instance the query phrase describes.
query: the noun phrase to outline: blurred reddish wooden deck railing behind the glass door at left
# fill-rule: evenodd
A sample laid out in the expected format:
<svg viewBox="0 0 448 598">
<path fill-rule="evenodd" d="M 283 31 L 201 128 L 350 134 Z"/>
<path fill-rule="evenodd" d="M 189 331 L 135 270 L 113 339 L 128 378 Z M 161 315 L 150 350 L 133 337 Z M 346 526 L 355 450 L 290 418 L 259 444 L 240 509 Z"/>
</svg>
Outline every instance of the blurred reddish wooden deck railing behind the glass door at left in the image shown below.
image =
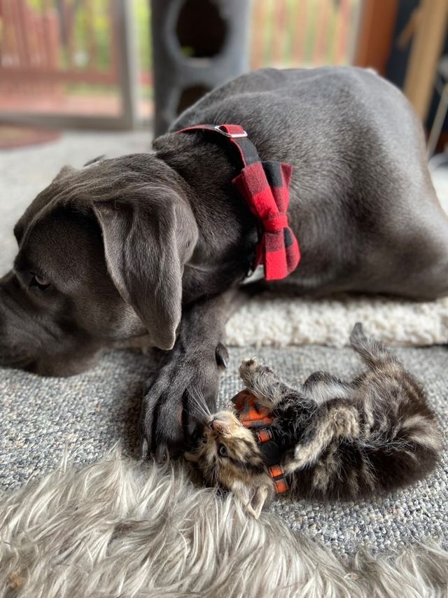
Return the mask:
<svg viewBox="0 0 448 598">
<path fill-rule="evenodd" d="M 99 40 L 92 27 L 96 0 L 0 0 L 0 83 L 118 83 L 114 13 L 106 41 L 109 64 L 99 64 Z M 85 11 L 83 39 L 76 38 L 76 6 Z M 82 62 L 83 64 L 77 64 Z"/>
</svg>

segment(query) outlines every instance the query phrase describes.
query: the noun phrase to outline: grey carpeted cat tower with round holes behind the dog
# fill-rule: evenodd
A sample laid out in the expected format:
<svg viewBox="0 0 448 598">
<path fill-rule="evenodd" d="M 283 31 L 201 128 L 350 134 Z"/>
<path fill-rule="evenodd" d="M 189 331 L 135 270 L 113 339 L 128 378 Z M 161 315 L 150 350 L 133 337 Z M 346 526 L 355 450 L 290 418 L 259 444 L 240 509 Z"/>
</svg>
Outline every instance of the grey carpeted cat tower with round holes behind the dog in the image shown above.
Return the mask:
<svg viewBox="0 0 448 598">
<path fill-rule="evenodd" d="M 151 0 L 155 136 L 248 70 L 250 0 Z"/>
</svg>

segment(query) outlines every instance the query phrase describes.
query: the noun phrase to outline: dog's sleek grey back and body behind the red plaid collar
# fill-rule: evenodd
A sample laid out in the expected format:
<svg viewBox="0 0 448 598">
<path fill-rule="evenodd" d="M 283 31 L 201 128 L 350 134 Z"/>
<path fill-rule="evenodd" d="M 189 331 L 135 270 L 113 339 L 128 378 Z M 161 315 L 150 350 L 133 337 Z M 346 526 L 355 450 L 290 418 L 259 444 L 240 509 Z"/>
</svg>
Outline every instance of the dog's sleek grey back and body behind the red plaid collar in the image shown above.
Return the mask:
<svg viewBox="0 0 448 598">
<path fill-rule="evenodd" d="M 421 123 L 391 83 L 356 67 L 263 69 L 211 91 L 172 130 L 201 123 L 237 123 L 262 159 L 295 167 L 290 224 L 303 251 L 289 286 L 447 293 L 447 216 Z"/>
</svg>

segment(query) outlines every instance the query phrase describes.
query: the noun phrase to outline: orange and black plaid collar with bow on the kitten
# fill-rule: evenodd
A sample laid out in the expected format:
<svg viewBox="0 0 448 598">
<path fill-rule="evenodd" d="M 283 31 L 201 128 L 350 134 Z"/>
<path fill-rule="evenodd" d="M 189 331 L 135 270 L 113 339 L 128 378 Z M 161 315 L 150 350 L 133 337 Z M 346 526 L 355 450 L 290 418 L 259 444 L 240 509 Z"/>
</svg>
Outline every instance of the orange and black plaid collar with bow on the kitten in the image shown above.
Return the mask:
<svg viewBox="0 0 448 598">
<path fill-rule="evenodd" d="M 274 482 L 277 494 L 287 492 L 289 489 L 286 473 L 280 465 L 281 451 L 274 440 L 272 432 L 272 413 L 266 407 L 258 405 L 257 399 L 247 390 L 243 390 L 232 398 L 238 419 L 245 428 L 251 429 L 257 439 L 258 448 L 262 452 L 263 461 L 267 471 Z"/>
</svg>

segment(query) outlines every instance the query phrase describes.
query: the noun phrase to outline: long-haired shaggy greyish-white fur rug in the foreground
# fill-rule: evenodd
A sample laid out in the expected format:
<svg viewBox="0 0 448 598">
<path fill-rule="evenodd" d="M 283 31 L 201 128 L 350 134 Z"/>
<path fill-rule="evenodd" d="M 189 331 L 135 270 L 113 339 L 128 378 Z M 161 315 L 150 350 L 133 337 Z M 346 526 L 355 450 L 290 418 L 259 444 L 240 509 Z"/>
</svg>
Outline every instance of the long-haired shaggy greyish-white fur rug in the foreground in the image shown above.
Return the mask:
<svg viewBox="0 0 448 598">
<path fill-rule="evenodd" d="M 0 529 L 7 598 L 447 595 L 435 544 L 342 562 L 272 515 L 255 521 L 183 471 L 118 451 L 3 494 Z"/>
</svg>

